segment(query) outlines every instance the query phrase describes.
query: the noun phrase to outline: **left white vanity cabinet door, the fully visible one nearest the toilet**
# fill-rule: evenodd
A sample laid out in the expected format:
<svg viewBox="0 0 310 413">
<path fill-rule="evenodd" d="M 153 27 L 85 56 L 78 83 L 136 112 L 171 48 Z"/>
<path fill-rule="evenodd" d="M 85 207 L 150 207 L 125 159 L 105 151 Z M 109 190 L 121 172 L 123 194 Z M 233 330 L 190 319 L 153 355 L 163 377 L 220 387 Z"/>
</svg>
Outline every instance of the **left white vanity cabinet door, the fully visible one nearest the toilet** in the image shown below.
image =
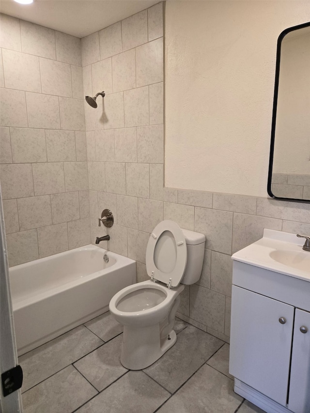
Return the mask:
<svg viewBox="0 0 310 413">
<path fill-rule="evenodd" d="M 233 286 L 229 372 L 283 406 L 293 319 L 293 306 Z"/>
</svg>

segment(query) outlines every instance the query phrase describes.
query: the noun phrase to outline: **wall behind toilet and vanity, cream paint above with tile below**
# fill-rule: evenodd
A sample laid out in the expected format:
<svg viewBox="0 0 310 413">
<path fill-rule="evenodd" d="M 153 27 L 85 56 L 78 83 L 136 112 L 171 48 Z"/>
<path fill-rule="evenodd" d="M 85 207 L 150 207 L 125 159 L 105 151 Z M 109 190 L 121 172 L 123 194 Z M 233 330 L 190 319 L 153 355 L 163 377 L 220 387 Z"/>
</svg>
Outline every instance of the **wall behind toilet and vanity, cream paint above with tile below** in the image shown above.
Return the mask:
<svg viewBox="0 0 310 413">
<path fill-rule="evenodd" d="M 164 218 L 206 236 L 202 277 L 178 315 L 226 341 L 232 253 L 264 228 L 310 234 L 310 204 L 266 198 L 277 38 L 309 21 L 309 6 L 166 4 L 165 184 L 185 189 L 166 189 Z"/>
</svg>

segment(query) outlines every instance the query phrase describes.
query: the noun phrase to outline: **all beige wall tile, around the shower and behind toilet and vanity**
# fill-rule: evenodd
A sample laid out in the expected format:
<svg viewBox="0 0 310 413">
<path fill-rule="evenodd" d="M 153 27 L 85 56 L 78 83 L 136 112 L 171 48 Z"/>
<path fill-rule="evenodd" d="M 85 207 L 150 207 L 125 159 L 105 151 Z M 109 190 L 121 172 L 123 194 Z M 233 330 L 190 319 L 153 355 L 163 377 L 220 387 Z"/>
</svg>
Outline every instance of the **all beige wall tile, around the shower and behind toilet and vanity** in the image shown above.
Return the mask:
<svg viewBox="0 0 310 413">
<path fill-rule="evenodd" d="M 150 232 L 172 219 L 207 240 L 201 279 L 182 293 L 178 316 L 229 341 L 232 253 L 264 228 L 310 234 L 310 204 L 163 187 L 162 17 L 158 3 L 81 39 L 80 48 L 75 37 L 3 16 L 10 265 L 94 244 L 108 232 L 100 246 L 137 260 L 142 281 Z M 84 101 L 102 91 L 97 109 Z M 105 208 L 115 217 L 110 229 L 98 227 Z"/>
</svg>

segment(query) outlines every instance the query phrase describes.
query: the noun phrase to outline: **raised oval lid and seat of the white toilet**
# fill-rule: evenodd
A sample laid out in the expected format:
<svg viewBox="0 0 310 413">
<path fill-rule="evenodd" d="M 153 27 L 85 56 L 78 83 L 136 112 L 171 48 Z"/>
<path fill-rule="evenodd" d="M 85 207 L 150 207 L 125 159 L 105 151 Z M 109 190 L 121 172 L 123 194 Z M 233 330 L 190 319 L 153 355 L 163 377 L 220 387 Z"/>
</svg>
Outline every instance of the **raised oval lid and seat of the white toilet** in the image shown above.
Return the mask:
<svg viewBox="0 0 310 413">
<path fill-rule="evenodd" d="M 153 229 L 146 247 L 146 271 L 150 277 L 177 287 L 184 275 L 187 247 L 182 229 L 171 220 Z M 171 279 L 171 281 L 170 281 Z"/>
</svg>

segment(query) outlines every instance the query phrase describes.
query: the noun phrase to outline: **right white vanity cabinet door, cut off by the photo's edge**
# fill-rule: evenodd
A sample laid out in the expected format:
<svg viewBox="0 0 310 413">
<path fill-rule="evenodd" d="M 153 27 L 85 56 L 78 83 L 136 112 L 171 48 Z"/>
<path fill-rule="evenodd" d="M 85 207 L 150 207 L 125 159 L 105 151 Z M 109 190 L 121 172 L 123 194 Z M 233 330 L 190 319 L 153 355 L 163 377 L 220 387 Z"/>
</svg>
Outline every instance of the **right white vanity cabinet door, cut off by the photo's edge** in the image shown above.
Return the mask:
<svg viewBox="0 0 310 413">
<path fill-rule="evenodd" d="M 302 333 L 300 327 L 308 331 Z M 288 408 L 295 413 L 310 412 L 310 313 L 298 309 L 295 311 Z"/>
</svg>

